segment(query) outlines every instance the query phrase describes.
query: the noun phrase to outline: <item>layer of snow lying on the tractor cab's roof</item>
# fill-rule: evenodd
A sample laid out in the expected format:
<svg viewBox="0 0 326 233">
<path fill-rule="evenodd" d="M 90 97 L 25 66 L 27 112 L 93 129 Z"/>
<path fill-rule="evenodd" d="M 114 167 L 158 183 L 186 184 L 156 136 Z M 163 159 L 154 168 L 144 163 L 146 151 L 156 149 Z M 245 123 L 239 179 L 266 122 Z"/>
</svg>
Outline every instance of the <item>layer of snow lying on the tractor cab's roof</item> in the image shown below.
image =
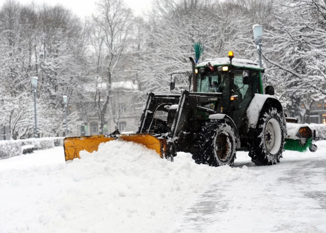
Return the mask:
<svg viewBox="0 0 326 233">
<path fill-rule="evenodd" d="M 221 57 L 221 58 L 206 59 L 203 62 L 197 64 L 196 67 L 205 66 L 208 62 L 210 62 L 210 64 L 212 64 L 213 66 L 230 65 L 230 58 Z M 246 67 L 246 68 L 252 68 L 257 70 L 263 70 L 262 68 L 259 67 L 259 65 L 256 62 L 248 59 L 233 58 L 232 65 L 236 67 Z"/>
</svg>

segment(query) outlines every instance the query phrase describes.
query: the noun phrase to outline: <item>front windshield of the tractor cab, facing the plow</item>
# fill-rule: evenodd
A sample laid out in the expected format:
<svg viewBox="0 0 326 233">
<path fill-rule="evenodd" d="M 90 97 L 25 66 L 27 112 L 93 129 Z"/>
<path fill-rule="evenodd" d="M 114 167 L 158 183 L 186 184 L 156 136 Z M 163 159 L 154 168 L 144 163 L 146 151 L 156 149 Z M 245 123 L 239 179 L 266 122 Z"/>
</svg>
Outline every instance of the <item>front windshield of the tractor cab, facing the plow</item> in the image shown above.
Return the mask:
<svg viewBox="0 0 326 233">
<path fill-rule="evenodd" d="M 197 92 L 222 92 L 226 79 L 228 79 L 226 72 L 198 73 L 196 75 Z"/>
</svg>

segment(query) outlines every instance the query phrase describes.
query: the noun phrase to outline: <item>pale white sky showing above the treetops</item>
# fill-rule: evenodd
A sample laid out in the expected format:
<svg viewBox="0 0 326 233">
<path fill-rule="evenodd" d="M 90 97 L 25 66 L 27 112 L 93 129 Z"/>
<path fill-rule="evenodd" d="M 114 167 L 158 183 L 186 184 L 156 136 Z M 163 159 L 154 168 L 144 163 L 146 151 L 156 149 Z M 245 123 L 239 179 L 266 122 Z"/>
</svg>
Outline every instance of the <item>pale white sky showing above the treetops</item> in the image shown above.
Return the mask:
<svg viewBox="0 0 326 233">
<path fill-rule="evenodd" d="M 47 3 L 49 5 L 61 4 L 71 9 L 75 14 L 80 17 L 90 16 L 95 12 L 96 0 L 34 0 L 36 3 Z M 0 0 L 2 5 L 5 0 Z M 22 4 L 29 4 L 32 0 L 18 0 Z M 135 15 L 142 15 L 142 12 L 146 12 L 150 8 L 152 0 L 124 0 L 128 7 L 130 7 Z"/>
</svg>

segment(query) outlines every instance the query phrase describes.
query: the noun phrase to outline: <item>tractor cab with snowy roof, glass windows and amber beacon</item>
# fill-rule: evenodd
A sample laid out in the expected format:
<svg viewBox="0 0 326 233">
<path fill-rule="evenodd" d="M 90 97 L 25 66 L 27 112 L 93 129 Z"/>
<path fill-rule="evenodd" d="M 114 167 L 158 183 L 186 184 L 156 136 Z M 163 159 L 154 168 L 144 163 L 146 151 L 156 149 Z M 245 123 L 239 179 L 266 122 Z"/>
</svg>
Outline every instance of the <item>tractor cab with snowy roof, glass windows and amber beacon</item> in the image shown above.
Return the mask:
<svg viewBox="0 0 326 233">
<path fill-rule="evenodd" d="M 229 115 L 240 128 L 254 94 L 263 94 L 261 73 L 264 70 L 255 62 L 233 58 L 233 52 L 230 53 L 229 58 L 199 63 L 195 67 L 193 86 L 196 93 L 221 93 L 221 99 L 214 103 L 214 110 Z"/>
</svg>

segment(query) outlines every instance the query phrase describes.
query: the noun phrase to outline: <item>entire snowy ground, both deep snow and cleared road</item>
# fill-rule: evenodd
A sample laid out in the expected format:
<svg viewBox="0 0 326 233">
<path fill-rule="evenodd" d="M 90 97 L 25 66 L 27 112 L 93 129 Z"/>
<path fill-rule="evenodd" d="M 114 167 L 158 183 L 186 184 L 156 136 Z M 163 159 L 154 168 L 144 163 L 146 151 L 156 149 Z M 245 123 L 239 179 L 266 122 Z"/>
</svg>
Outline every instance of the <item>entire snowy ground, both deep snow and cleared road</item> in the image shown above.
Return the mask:
<svg viewBox="0 0 326 233">
<path fill-rule="evenodd" d="M 65 163 L 55 147 L 0 160 L 0 233 L 326 232 L 326 141 L 256 167 L 174 163 L 111 141 Z"/>
</svg>

